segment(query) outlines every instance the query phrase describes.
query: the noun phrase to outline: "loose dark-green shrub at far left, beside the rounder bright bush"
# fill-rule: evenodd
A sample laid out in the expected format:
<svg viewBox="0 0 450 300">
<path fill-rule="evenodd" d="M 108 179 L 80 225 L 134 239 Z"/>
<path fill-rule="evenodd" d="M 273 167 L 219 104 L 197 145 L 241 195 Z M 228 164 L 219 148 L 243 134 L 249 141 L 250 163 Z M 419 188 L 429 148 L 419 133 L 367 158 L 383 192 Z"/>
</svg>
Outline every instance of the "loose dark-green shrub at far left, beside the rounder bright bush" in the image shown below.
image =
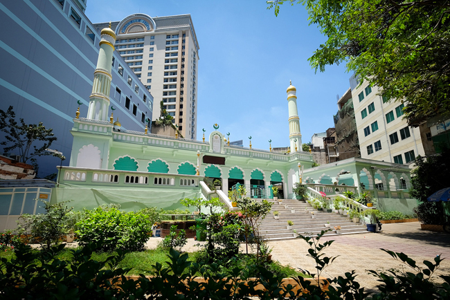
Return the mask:
<svg viewBox="0 0 450 300">
<path fill-rule="evenodd" d="M 23 214 L 19 218 L 19 232 L 24 231 L 31 234 L 31 238 L 37 241 L 42 247 L 50 248 L 52 243 L 57 243 L 61 236 L 68 233 L 67 224 L 69 213 L 73 207 L 69 208 L 65 202 L 51 204 L 44 203 L 45 214 Z"/>
</svg>

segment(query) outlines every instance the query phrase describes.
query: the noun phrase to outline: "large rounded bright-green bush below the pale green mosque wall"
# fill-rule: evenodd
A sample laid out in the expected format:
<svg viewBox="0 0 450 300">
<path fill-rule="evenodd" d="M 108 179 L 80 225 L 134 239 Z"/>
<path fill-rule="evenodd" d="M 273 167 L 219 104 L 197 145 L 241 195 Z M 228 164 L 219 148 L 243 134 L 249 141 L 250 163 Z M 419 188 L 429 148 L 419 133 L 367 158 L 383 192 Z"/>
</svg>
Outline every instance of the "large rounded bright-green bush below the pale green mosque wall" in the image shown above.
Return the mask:
<svg viewBox="0 0 450 300">
<path fill-rule="evenodd" d="M 148 240 L 152 222 L 141 212 L 120 212 L 116 207 L 97 207 L 84 211 L 76 224 L 81 245 L 96 243 L 96 250 L 141 251 Z"/>
</svg>

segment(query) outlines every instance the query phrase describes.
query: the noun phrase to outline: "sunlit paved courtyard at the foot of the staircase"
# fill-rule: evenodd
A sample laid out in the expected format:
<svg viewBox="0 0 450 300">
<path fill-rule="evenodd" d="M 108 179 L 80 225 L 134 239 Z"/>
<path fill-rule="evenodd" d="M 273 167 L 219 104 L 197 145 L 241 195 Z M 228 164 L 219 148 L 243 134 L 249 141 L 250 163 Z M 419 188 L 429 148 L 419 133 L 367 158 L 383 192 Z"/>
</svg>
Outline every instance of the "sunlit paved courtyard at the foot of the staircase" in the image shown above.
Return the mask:
<svg viewBox="0 0 450 300">
<path fill-rule="evenodd" d="M 419 265 L 423 265 L 424 260 L 433 261 L 436 255 L 442 254 L 445 260 L 435 274 L 450 274 L 450 234 L 422 231 L 418 222 L 384 224 L 380 233 L 330 236 L 321 241 L 323 243 L 328 239 L 334 240 L 334 243 L 325 250 L 325 254 L 339 257 L 325 269 L 322 276 L 333 278 L 355 270 L 361 286 L 374 288 L 377 281 L 367 270 L 408 269 L 380 248 L 404 252 Z M 150 238 L 147 247 L 156 247 L 159 241 L 161 238 Z M 189 239 L 183 250 L 197 250 L 195 245 L 198 243 Z M 309 245 L 300 238 L 269 242 L 269 246 L 273 247 L 272 258 L 283 265 L 310 272 L 316 270 L 313 259 L 306 256 Z"/>
</svg>

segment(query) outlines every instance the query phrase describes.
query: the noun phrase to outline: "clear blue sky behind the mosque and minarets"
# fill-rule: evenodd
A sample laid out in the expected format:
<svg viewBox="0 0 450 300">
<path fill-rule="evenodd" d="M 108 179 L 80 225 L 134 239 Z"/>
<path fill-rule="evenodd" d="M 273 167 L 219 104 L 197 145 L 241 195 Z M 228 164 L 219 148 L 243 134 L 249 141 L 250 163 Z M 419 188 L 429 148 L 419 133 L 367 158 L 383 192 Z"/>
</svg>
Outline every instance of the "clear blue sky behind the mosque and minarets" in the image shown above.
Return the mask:
<svg viewBox="0 0 450 300">
<path fill-rule="evenodd" d="M 213 124 L 253 148 L 289 145 L 286 88 L 297 88 L 303 143 L 333 127 L 336 95 L 349 88 L 345 65 L 314 73 L 307 59 L 325 41 L 308 26 L 303 6 L 282 6 L 275 17 L 264 0 L 88 0 L 93 23 L 120 21 L 141 12 L 150 17 L 190 14 L 199 41 L 197 140 Z"/>
</svg>

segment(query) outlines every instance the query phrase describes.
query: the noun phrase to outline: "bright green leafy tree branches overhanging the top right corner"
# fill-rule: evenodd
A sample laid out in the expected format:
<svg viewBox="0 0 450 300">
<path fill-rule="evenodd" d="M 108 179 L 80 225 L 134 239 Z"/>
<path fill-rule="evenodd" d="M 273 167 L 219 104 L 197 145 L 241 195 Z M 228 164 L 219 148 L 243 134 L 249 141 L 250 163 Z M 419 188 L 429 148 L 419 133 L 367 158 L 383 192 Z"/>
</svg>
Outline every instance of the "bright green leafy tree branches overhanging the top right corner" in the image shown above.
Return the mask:
<svg viewBox="0 0 450 300">
<path fill-rule="evenodd" d="M 286 2 L 303 4 L 327 37 L 309 58 L 316 71 L 346 62 L 387 99 L 408 100 L 410 125 L 450 111 L 450 1 L 276 0 L 268 9 L 278 15 Z"/>
</svg>

